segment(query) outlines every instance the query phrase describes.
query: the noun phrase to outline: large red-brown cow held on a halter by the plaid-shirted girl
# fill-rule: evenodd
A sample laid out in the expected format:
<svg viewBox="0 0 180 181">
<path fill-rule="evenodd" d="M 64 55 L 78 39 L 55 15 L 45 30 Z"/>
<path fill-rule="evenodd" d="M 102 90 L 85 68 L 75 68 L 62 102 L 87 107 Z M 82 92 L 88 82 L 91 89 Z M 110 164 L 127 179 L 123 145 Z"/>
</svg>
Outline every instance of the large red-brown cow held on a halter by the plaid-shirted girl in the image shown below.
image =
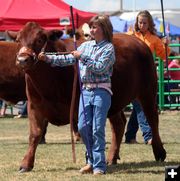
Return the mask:
<svg viewBox="0 0 180 181">
<path fill-rule="evenodd" d="M 34 166 L 35 152 L 45 129 L 45 120 L 54 125 L 69 123 L 73 66 L 51 67 L 37 60 L 42 48 L 46 52 L 53 51 L 53 45 L 47 40 L 46 34 L 36 23 L 26 24 L 18 34 L 18 40 L 26 48 L 25 52 L 19 52 L 17 63 L 26 74 L 30 121 L 29 148 L 22 160 L 21 172 L 30 171 Z M 70 40 L 64 42 L 67 48 L 73 44 Z M 112 76 L 112 106 L 108 114 L 112 142 L 107 161 L 116 163 L 119 159 L 120 143 L 126 124 L 122 109 L 134 99 L 140 101 L 152 128 L 155 159 L 163 161 L 166 151 L 158 130 L 157 76 L 152 54 L 142 41 L 125 34 L 114 37 L 114 46 L 116 63 Z M 74 120 L 77 120 L 78 99 L 77 91 Z"/>
</svg>

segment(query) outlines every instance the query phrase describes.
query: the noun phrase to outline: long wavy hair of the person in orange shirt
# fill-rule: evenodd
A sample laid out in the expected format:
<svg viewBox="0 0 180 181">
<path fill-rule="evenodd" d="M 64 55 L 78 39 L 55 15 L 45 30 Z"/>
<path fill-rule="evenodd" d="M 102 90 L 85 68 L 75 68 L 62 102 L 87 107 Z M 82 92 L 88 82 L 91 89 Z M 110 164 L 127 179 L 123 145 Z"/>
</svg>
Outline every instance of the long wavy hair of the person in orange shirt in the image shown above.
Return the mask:
<svg viewBox="0 0 180 181">
<path fill-rule="evenodd" d="M 139 27 L 138 27 L 138 18 L 139 16 L 143 16 L 143 17 L 146 17 L 148 18 L 148 23 L 149 23 L 149 27 L 148 27 L 148 30 L 150 33 L 152 34 L 156 34 L 157 33 L 157 30 L 155 29 L 155 24 L 154 24 L 154 21 L 153 21 L 153 18 L 151 16 L 151 14 L 149 13 L 149 11 L 147 10 L 144 10 L 144 11 L 140 11 L 136 17 L 136 22 L 135 22 L 135 31 L 139 31 Z"/>
</svg>

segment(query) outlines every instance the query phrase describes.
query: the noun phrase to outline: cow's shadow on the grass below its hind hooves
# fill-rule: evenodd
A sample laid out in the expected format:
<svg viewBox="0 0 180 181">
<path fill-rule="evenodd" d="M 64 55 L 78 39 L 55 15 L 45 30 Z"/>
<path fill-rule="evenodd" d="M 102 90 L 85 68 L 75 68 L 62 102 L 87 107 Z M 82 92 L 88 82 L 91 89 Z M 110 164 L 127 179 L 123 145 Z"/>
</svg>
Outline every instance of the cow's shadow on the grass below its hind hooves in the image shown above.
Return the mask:
<svg viewBox="0 0 180 181">
<path fill-rule="evenodd" d="M 156 161 L 144 161 L 144 162 L 128 162 L 128 163 L 120 163 L 117 165 L 110 165 L 107 168 L 107 173 L 153 173 L 153 174 L 163 174 L 165 171 L 165 166 L 169 165 L 179 165 L 178 161 L 172 162 L 156 162 Z M 163 167 L 164 170 L 154 170 L 154 167 Z"/>
</svg>

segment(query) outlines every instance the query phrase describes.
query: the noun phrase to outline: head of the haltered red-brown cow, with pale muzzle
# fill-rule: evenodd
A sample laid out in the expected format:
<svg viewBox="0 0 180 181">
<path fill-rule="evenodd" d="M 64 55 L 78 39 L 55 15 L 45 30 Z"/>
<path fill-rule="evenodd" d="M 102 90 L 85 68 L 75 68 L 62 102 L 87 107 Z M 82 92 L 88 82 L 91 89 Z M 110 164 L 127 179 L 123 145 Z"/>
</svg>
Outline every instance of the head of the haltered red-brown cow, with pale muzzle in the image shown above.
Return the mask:
<svg viewBox="0 0 180 181">
<path fill-rule="evenodd" d="M 16 64 L 29 69 L 37 63 L 37 56 L 41 51 L 65 51 L 64 43 L 59 40 L 62 34 L 60 30 L 47 31 L 35 22 L 28 22 L 16 35 L 16 41 L 22 45 L 17 53 Z"/>
</svg>

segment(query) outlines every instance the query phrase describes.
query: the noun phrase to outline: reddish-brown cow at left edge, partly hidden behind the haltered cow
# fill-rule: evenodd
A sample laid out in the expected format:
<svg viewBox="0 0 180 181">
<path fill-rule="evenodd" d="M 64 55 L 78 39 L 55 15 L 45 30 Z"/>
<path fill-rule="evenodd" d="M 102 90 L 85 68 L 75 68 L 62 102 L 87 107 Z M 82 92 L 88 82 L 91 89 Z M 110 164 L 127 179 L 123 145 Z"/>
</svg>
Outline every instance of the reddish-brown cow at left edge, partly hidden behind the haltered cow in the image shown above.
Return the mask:
<svg viewBox="0 0 180 181">
<path fill-rule="evenodd" d="M 0 41 L 0 98 L 12 104 L 26 100 L 24 72 L 16 64 L 20 44 Z"/>
</svg>

